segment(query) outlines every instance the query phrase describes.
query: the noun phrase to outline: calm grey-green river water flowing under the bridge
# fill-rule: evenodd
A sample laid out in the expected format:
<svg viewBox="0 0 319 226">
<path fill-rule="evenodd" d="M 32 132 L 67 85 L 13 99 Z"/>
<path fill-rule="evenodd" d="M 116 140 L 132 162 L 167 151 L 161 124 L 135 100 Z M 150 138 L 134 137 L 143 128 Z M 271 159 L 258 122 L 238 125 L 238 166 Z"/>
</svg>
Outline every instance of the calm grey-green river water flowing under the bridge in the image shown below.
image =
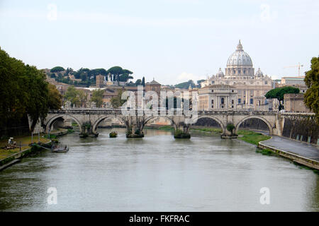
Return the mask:
<svg viewBox="0 0 319 226">
<path fill-rule="evenodd" d="M 254 145 L 193 132 L 145 129 L 145 138 L 60 138 L 68 153 L 45 151 L 0 172 L 7 211 L 318 211 L 319 176 Z M 49 205 L 47 189 L 57 189 Z M 259 191 L 269 189 L 269 204 Z"/>
</svg>

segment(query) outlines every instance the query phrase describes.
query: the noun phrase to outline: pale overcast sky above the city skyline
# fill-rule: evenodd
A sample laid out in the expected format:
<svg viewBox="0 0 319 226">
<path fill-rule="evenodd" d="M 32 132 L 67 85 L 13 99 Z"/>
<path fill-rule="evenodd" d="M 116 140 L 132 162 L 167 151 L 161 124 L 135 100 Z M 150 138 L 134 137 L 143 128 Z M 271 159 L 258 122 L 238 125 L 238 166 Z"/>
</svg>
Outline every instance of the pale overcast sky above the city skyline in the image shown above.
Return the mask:
<svg viewBox="0 0 319 226">
<path fill-rule="evenodd" d="M 0 47 L 38 69 L 121 66 L 174 85 L 224 70 L 241 40 L 276 79 L 310 69 L 318 21 L 318 0 L 0 0 Z"/>
</svg>

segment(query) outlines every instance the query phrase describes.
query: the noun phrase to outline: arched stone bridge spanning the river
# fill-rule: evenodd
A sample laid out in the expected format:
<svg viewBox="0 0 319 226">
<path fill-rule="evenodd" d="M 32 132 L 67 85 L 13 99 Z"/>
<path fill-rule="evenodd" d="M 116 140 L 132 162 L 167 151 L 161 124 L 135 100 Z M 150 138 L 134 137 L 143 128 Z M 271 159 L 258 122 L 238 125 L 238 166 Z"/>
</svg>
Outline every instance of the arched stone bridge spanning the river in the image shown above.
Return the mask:
<svg viewBox="0 0 319 226">
<path fill-rule="evenodd" d="M 149 121 L 159 117 L 165 117 L 171 121 L 175 131 L 177 129 L 183 131 L 183 133 L 189 133 L 189 128 L 192 124 L 186 124 L 184 115 L 177 115 L 177 112 L 172 112 L 171 116 L 166 114 L 162 116 L 158 112 L 157 115 L 148 115 L 147 112 L 135 111 L 133 116 L 125 116 L 122 114 L 121 109 L 60 109 L 51 110 L 44 121 L 43 129 L 45 132 L 52 129 L 52 125 L 57 120 L 74 120 L 79 125 L 80 135 L 86 134 L 88 136 L 98 136 L 96 129 L 99 123 L 104 119 L 116 118 L 125 124 L 128 137 L 141 137 L 144 136 L 142 130 Z M 163 112 L 162 112 L 163 113 Z M 196 119 L 209 118 L 218 122 L 220 128 L 225 136 L 229 136 L 230 132 L 226 129 L 228 124 L 235 126 L 234 133 L 236 134 L 240 124 L 247 119 L 260 119 L 267 124 L 269 133 L 272 135 L 282 135 L 284 128 L 285 117 L 290 116 L 299 117 L 313 117 L 313 114 L 306 113 L 279 113 L 279 112 L 247 112 L 247 111 L 198 111 Z"/>
</svg>

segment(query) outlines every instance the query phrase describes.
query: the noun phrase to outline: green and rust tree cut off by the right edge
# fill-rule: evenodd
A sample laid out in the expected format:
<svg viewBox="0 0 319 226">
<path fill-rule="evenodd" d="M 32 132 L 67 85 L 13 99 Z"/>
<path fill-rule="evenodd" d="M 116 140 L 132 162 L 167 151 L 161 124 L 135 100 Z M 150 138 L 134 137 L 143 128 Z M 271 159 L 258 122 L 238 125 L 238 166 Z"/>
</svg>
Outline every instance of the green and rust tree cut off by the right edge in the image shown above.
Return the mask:
<svg viewBox="0 0 319 226">
<path fill-rule="evenodd" d="M 305 83 L 308 87 L 305 104 L 315 113 L 319 124 L 319 57 L 311 59 L 311 69 L 306 72 Z"/>
</svg>

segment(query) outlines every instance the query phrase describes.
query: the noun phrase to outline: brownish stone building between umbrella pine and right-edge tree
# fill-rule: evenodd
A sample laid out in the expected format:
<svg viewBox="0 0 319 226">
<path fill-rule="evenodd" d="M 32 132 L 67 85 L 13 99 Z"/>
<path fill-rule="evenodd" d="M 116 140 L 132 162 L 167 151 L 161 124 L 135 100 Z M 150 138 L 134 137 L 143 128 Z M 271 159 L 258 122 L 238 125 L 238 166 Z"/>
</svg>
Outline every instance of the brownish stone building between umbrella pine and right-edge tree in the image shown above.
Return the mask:
<svg viewBox="0 0 319 226">
<path fill-rule="evenodd" d="M 306 107 L 303 93 L 286 93 L 284 95 L 284 109 L 286 112 L 311 112 Z"/>
</svg>

